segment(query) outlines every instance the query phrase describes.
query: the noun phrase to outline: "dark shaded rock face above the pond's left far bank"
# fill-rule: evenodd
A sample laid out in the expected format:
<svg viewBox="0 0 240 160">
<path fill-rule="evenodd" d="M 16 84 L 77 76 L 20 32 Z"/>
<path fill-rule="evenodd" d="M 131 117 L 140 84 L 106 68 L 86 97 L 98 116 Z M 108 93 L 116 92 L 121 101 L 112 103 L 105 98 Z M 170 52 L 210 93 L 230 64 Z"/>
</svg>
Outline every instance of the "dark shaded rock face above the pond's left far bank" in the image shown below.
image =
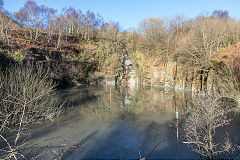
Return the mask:
<svg viewBox="0 0 240 160">
<path fill-rule="evenodd" d="M 68 61 L 67 53 L 61 51 L 29 48 L 23 54 L 27 60 L 43 64 L 60 88 L 90 83 L 90 75 L 97 68 L 96 63 Z"/>
</svg>

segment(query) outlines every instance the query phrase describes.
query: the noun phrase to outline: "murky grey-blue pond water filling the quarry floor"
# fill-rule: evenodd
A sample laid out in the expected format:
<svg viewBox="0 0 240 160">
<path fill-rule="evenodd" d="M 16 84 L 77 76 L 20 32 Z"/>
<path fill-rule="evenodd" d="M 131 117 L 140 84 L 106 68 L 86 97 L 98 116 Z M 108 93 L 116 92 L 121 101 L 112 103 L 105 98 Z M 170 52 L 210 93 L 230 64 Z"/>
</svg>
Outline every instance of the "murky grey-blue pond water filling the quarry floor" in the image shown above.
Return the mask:
<svg viewBox="0 0 240 160">
<path fill-rule="evenodd" d="M 56 122 L 32 129 L 27 157 L 40 159 L 197 159 L 179 119 L 191 94 L 160 88 L 72 88 L 60 92 L 72 106 Z M 239 121 L 238 121 L 239 122 Z M 239 123 L 232 129 L 239 134 Z M 230 127 L 231 128 L 231 127 Z M 228 130 L 225 128 L 225 130 Z M 177 138 L 178 137 L 178 138 Z M 155 148 L 155 149 L 154 149 Z"/>
</svg>

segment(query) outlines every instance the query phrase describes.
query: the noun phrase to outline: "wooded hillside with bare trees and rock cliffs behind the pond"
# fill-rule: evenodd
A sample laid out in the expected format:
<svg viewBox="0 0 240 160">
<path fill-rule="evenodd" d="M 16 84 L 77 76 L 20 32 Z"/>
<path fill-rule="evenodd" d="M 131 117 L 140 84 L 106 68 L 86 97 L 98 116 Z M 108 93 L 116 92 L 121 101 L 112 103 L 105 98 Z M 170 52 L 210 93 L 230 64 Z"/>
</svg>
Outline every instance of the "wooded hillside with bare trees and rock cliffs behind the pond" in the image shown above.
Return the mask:
<svg viewBox="0 0 240 160">
<path fill-rule="evenodd" d="M 228 64 L 224 57 L 237 55 L 232 50 L 240 42 L 240 23 L 234 19 L 146 18 L 141 32 L 126 32 L 90 11 L 70 7 L 57 16 L 50 8 L 31 5 L 36 8 L 36 14 L 29 15 L 33 17 L 24 16 L 26 8 L 15 13 L 23 27 L 2 27 L 0 48 L 15 61 L 46 64 L 62 86 L 111 82 L 229 92 L 223 89 L 228 83 L 223 77 L 232 77 L 223 76 Z M 224 48 L 230 50 L 227 55 L 222 55 Z"/>
</svg>

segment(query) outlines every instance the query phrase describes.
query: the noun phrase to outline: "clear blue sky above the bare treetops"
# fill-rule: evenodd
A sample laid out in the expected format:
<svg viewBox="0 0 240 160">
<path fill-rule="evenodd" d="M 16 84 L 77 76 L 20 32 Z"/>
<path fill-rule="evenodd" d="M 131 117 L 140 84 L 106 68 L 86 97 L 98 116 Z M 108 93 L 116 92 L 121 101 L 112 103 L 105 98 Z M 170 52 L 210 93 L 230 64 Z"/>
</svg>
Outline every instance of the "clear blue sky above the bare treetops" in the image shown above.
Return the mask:
<svg viewBox="0 0 240 160">
<path fill-rule="evenodd" d="M 90 10 L 99 13 L 106 22 L 119 22 L 122 29 L 137 28 L 139 22 L 147 17 L 195 18 L 201 13 L 214 10 L 227 10 L 230 17 L 239 19 L 240 0 L 35 0 L 59 12 L 72 6 L 84 13 Z M 4 8 L 16 12 L 26 0 L 4 0 Z"/>
</svg>

